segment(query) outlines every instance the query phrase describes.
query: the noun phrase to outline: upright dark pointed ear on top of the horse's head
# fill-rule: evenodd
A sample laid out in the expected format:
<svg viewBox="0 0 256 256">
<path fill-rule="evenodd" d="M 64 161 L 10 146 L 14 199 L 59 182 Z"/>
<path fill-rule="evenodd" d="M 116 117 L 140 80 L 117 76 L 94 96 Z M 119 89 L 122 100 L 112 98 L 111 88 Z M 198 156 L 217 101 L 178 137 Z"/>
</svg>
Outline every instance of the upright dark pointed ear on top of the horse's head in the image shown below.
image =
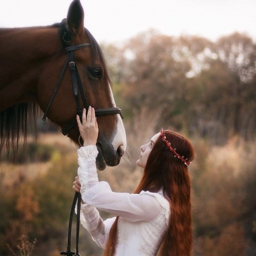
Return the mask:
<svg viewBox="0 0 256 256">
<path fill-rule="evenodd" d="M 79 0 L 74 0 L 68 8 L 67 24 L 72 34 L 76 34 L 76 35 L 83 34 L 84 10 Z"/>
</svg>

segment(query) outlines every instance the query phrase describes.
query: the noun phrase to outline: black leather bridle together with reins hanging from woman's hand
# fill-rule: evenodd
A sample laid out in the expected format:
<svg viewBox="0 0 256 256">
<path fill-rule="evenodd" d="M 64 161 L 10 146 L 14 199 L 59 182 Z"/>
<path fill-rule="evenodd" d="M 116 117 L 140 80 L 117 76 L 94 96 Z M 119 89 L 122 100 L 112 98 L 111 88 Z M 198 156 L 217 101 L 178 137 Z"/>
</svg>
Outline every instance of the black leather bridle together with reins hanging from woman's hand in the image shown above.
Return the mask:
<svg viewBox="0 0 256 256">
<path fill-rule="evenodd" d="M 83 102 L 83 107 L 88 109 L 88 104 L 86 102 L 86 97 L 83 89 L 83 84 L 81 83 L 81 79 L 79 76 L 79 72 L 77 69 L 76 65 L 76 60 L 74 58 L 74 51 L 77 51 L 79 49 L 83 49 L 86 47 L 90 47 L 90 43 L 85 43 L 85 44 L 79 44 L 79 45 L 72 45 L 72 36 L 67 28 L 67 23 L 66 20 L 63 20 L 60 23 L 60 35 L 61 35 L 61 42 L 63 46 L 65 47 L 65 50 L 67 52 L 67 58 L 65 60 L 64 66 L 61 70 L 60 77 L 56 83 L 56 86 L 54 88 L 54 92 L 51 95 L 51 99 L 49 100 L 49 103 L 47 105 L 47 108 L 45 109 L 44 117 L 42 118 L 44 121 L 46 120 L 47 113 L 49 111 L 49 108 L 51 107 L 51 104 L 54 100 L 54 97 L 57 93 L 57 90 L 60 86 L 61 79 L 65 73 L 67 64 L 69 64 L 70 67 L 70 72 L 71 72 L 71 77 L 72 77 L 72 86 L 74 90 L 74 96 L 76 100 L 76 111 L 77 115 L 79 115 L 80 120 L 82 120 L 82 115 L 83 115 L 83 110 L 81 108 L 80 100 L 79 100 L 79 95 L 78 95 L 78 90 L 81 94 L 81 99 Z M 78 86 L 77 86 L 78 85 Z M 100 115 L 117 115 L 119 114 L 122 118 L 122 113 L 120 108 L 104 108 L 104 109 L 95 109 L 95 115 L 100 116 Z M 63 135 L 67 135 L 68 132 L 77 124 L 76 118 L 74 118 L 74 121 L 71 122 L 67 127 L 61 129 L 61 132 Z M 80 138 L 80 137 L 79 137 Z M 72 230 L 72 220 L 74 216 L 74 211 L 76 208 L 77 204 L 77 223 L 76 223 L 76 253 L 71 252 L 71 230 Z M 61 252 L 61 255 L 67 255 L 67 256 L 72 256 L 76 255 L 79 256 L 79 250 L 78 250 L 78 242 L 79 242 L 79 224 L 80 224 L 80 209 L 81 209 L 81 194 L 76 192 L 74 196 L 74 200 L 72 203 L 72 208 L 70 211 L 70 218 L 69 218 L 69 224 L 68 224 L 68 246 L 67 246 L 67 252 Z"/>
</svg>

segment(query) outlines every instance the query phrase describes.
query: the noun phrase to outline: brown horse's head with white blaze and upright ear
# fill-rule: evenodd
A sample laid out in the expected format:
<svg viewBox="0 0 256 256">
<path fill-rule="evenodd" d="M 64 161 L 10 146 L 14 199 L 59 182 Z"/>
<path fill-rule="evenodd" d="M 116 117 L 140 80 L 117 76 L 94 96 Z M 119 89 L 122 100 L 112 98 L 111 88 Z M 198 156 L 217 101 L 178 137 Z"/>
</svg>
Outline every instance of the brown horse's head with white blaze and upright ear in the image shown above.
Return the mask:
<svg viewBox="0 0 256 256">
<path fill-rule="evenodd" d="M 63 74 L 58 93 L 56 93 L 47 115 L 52 122 L 60 125 L 63 129 L 72 124 L 72 122 L 74 124 L 77 114 L 77 102 L 74 97 L 74 94 L 76 94 L 74 90 L 76 89 L 74 89 L 74 84 L 72 86 L 72 83 L 77 83 L 76 86 L 79 86 L 81 81 L 81 94 L 77 93 L 79 106 L 83 106 L 84 104 L 87 105 L 83 106 L 84 108 L 93 106 L 93 108 L 95 108 L 96 111 L 99 110 L 99 112 L 102 109 L 110 110 L 108 115 L 100 115 L 97 117 L 99 124 L 99 137 L 97 140 L 99 155 L 97 157 L 97 168 L 104 170 L 106 164 L 115 166 L 120 162 L 120 158 L 124 155 L 126 148 L 124 125 L 121 115 L 110 115 L 111 109 L 116 109 L 111 90 L 111 81 L 99 45 L 90 32 L 84 28 L 84 11 L 80 1 L 74 0 L 70 4 L 67 20 L 65 21 L 65 29 L 60 31 L 60 36 L 63 44 L 67 43 L 67 45 L 75 46 L 85 45 L 85 47 L 81 47 L 81 49 L 72 48 L 74 49 L 74 51 L 72 51 L 74 65 L 76 65 L 74 76 L 77 75 L 79 77 L 72 77 L 72 71 L 68 70 L 70 68 L 70 61 L 72 61 L 69 58 L 67 65 L 69 67 L 65 69 L 65 74 Z M 87 47 L 87 45 L 89 46 Z M 63 55 L 66 56 L 67 54 L 65 49 L 63 50 L 64 51 L 60 54 L 60 60 L 63 60 Z M 60 63 L 57 59 L 54 62 L 56 62 L 56 65 Z M 42 92 L 42 89 L 48 91 L 48 95 L 52 90 L 52 87 L 51 89 L 49 88 L 49 76 L 52 76 L 52 80 L 56 79 L 56 74 L 51 72 L 51 68 L 45 68 L 44 72 L 41 74 L 40 83 L 38 83 L 37 97 L 38 101 L 42 98 L 40 105 L 44 110 L 46 106 L 45 99 L 47 99 L 47 97 L 41 97 L 41 95 L 46 94 Z M 77 92 L 79 92 L 79 88 L 77 88 Z M 86 103 L 83 102 L 83 92 Z M 79 111 L 81 111 L 81 109 L 79 109 Z M 76 143 L 80 142 L 77 125 L 74 125 L 69 131 L 67 130 L 67 136 Z"/>
</svg>

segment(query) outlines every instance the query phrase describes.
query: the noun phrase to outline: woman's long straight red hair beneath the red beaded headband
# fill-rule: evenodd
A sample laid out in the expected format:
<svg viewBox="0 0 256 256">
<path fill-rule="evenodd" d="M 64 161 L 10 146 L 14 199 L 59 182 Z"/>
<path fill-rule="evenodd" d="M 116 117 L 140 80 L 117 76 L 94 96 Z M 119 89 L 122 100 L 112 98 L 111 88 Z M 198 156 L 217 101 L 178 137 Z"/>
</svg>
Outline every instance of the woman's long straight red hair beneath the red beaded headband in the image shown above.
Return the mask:
<svg viewBox="0 0 256 256">
<path fill-rule="evenodd" d="M 189 140 L 177 132 L 166 130 L 164 133 L 166 140 L 172 143 L 172 147 L 176 148 L 180 156 L 188 158 L 188 161 L 193 160 L 195 152 Z M 193 234 L 188 166 L 173 156 L 159 136 L 148 156 L 140 184 L 134 193 L 157 192 L 162 188 L 166 199 L 170 201 L 171 216 L 157 255 L 189 256 L 192 250 Z M 118 216 L 109 232 L 104 256 L 115 255 L 117 222 Z"/>
</svg>

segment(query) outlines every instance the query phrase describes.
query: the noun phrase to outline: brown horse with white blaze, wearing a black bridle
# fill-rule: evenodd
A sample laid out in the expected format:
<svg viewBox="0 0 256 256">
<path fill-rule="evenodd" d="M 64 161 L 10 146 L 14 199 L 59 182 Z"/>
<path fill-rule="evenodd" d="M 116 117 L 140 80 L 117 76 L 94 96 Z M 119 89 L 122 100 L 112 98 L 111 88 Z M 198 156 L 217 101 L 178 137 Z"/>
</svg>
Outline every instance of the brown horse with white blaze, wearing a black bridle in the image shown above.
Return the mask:
<svg viewBox="0 0 256 256">
<path fill-rule="evenodd" d="M 70 4 L 66 22 L 0 29 L 0 56 L 0 152 L 17 150 L 21 137 L 26 141 L 29 116 L 36 120 L 38 106 L 78 145 L 76 114 L 93 106 L 100 115 L 97 168 L 120 163 L 124 125 L 102 51 L 84 28 L 79 0 Z"/>
</svg>

